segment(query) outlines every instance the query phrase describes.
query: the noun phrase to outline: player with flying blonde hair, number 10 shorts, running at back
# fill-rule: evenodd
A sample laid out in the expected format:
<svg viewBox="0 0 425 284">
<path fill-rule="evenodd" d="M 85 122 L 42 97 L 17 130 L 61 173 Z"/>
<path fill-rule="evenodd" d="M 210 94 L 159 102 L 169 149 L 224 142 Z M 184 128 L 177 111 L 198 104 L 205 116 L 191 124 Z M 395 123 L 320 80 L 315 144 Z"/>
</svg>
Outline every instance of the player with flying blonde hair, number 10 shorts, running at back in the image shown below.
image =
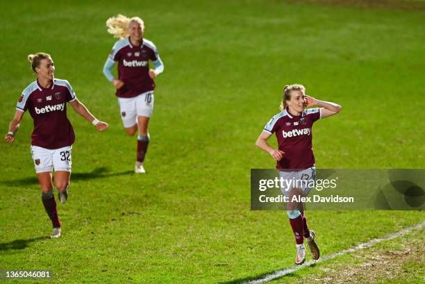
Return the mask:
<svg viewBox="0 0 425 284">
<path fill-rule="evenodd" d="M 115 42 L 103 74 L 117 88 L 119 112 L 126 133 L 133 136 L 138 132 L 135 172 L 143 174 L 149 144 L 148 123 L 153 111 L 153 78 L 164 71 L 164 65 L 155 44 L 143 38 L 144 23 L 140 17 L 117 15 L 108 19 L 106 26 L 108 32 L 120 40 Z M 155 69 L 149 69 L 149 60 Z M 118 78 L 111 71 L 115 62 L 118 62 Z"/>
</svg>

